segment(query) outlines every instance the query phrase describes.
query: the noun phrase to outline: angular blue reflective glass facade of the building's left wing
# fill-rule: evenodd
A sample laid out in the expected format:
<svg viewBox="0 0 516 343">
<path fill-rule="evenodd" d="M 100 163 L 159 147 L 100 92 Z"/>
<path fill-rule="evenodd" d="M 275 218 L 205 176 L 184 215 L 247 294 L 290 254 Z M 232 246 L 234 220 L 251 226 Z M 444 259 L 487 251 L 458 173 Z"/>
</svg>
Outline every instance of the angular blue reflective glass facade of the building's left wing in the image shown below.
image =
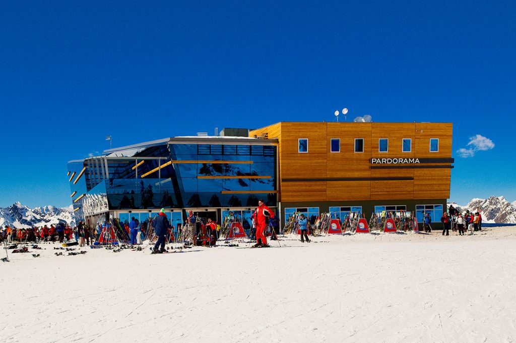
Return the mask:
<svg viewBox="0 0 516 343">
<path fill-rule="evenodd" d="M 79 215 L 83 218 L 108 210 L 254 208 L 259 198 L 275 207 L 276 149 L 165 142 L 72 161 L 72 200 L 82 196 L 77 202 L 81 209 L 88 202 L 88 210 Z M 83 169 L 84 175 L 73 183 Z"/>
</svg>

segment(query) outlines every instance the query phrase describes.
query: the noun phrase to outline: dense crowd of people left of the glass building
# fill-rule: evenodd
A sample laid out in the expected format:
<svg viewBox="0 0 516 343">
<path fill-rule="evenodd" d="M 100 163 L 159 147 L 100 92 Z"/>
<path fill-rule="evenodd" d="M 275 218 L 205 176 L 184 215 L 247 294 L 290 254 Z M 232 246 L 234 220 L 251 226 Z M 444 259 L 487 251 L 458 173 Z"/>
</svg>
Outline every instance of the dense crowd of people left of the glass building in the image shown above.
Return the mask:
<svg viewBox="0 0 516 343">
<path fill-rule="evenodd" d="M 7 241 L 8 243 L 15 242 L 71 242 L 73 240 L 79 242 L 84 238 L 84 242 L 89 244 L 90 237 L 92 237 L 91 229 L 79 221 L 76 227 L 70 227 L 64 222 L 59 222 L 57 225 L 50 227 L 45 225 L 42 227 L 33 227 L 28 229 L 16 229 L 6 225 L 0 229 L 0 242 Z"/>
</svg>

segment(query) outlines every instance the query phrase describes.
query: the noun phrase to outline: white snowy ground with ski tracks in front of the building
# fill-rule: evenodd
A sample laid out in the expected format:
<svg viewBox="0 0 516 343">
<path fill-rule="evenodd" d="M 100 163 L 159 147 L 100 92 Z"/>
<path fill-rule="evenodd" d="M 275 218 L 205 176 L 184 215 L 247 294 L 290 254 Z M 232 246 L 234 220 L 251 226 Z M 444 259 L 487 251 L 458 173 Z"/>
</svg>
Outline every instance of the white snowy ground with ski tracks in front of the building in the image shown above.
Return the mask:
<svg viewBox="0 0 516 343">
<path fill-rule="evenodd" d="M 11 262 L 0 262 L 0 337 L 516 341 L 516 228 L 313 241 L 162 255 L 83 248 L 55 256 L 53 245 L 42 245 L 40 258 L 9 254 Z"/>
</svg>

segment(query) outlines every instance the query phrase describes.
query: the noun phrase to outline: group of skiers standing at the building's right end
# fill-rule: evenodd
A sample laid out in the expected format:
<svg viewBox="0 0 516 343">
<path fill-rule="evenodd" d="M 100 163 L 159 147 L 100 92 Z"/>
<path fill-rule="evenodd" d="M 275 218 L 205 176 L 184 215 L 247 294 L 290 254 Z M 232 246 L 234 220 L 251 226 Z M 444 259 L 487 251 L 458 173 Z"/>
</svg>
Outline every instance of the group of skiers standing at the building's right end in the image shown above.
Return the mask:
<svg viewBox="0 0 516 343">
<path fill-rule="evenodd" d="M 444 212 L 441 217 L 443 226 L 443 236 L 449 235 L 449 231 L 458 232 L 459 235 L 465 235 L 465 231 L 469 230 L 470 235 L 475 231 L 482 231 L 482 214 L 480 212 L 470 212 L 466 210 L 461 213 L 453 205 L 450 205 L 448 212 Z M 429 213 L 425 214 L 423 219 L 423 226 L 425 232 L 432 232 L 432 220 Z"/>
</svg>

